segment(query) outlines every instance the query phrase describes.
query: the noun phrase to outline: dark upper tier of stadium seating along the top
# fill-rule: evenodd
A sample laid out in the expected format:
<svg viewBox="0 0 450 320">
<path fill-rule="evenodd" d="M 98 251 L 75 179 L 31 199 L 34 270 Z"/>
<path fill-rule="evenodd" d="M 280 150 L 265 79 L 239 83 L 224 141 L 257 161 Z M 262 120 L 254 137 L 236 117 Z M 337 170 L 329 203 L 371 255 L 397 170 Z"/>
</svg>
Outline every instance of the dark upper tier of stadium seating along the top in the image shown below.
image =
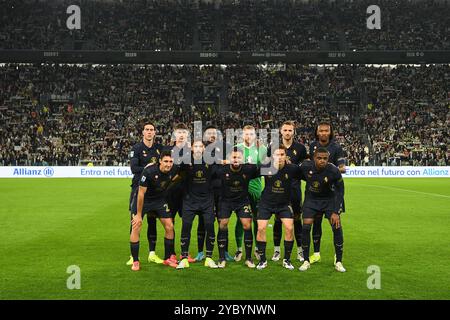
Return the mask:
<svg viewBox="0 0 450 320">
<path fill-rule="evenodd" d="M 224 1 L 225 2 L 225 1 Z M 2 3 L 0 49 L 51 50 L 444 50 L 450 4 L 407 0 L 241 0 L 215 7 L 166 1 L 15 1 Z M 69 5 L 81 29 L 68 30 Z M 381 9 L 369 30 L 366 9 Z"/>
</svg>

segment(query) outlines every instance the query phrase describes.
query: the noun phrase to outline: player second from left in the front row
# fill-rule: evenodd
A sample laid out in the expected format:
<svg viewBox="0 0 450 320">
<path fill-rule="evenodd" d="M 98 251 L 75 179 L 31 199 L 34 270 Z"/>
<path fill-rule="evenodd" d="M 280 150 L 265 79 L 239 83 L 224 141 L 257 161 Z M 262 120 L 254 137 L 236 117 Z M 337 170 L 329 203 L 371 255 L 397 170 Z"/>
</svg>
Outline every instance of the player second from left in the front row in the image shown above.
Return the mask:
<svg viewBox="0 0 450 320">
<path fill-rule="evenodd" d="M 211 192 L 212 180 L 216 175 L 217 165 L 206 164 L 203 161 L 205 145 L 196 140 L 192 144 L 192 159 L 190 164 L 181 164 L 180 174 L 184 179 L 183 195 L 183 226 L 181 231 L 181 256 L 179 269 L 189 267 L 189 244 L 191 240 L 192 222 L 195 215 L 203 215 L 206 230 L 206 260 L 205 266 L 217 268 L 212 260 L 214 243 L 214 195 Z"/>
</svg>

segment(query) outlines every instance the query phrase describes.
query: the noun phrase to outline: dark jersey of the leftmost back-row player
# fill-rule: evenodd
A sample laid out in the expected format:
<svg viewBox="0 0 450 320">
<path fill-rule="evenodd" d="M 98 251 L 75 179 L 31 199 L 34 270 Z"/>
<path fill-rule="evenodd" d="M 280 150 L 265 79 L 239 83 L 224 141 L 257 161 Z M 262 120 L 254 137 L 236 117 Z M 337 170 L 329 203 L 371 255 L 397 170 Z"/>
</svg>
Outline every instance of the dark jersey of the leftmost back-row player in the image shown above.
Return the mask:
<svg viewBox="0 0 450 320">
<path fill-rule="evenodd" d="M 157 163 L 163 146 L 160 144 L 153 144 L 150 148 L 144 142 L 136 143 L 130 151 L 130 167 L 133 173 L 133 180 L 131 187 L 139 186 L 139 179 L 142 171 L 149 163 Z"/>
</svg>

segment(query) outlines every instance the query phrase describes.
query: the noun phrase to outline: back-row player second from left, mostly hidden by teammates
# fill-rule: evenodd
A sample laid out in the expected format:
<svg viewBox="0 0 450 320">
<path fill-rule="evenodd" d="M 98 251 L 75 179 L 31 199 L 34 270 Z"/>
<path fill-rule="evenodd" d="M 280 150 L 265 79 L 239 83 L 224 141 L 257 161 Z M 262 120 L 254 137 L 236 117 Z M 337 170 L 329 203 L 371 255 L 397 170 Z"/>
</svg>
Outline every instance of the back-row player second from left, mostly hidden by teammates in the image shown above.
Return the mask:
<svg viewBox="0 0 450 320">
<path fill-rule="evenodd" d="M 165 147 L 172 154 L 174 164 L 179 166 L 183 163 L 189 163 L 191 158 L 191 148 L 189 145 L 189 128 L 186 124 L 180 122 L 173 126 L 174 143 L 172 146 Z M 172 213 L 172 220 L 175 223 L 175 217 L 181 217 L 183 208 L 183 185 L 177 183 L 171 188 L 171 192 L 167 196 L 170 211 Z M 181 255 L 180 255 L 181 259 Z M 189 262 L 195 262 L 195 259 L 188 256 Z"/>
</svg>

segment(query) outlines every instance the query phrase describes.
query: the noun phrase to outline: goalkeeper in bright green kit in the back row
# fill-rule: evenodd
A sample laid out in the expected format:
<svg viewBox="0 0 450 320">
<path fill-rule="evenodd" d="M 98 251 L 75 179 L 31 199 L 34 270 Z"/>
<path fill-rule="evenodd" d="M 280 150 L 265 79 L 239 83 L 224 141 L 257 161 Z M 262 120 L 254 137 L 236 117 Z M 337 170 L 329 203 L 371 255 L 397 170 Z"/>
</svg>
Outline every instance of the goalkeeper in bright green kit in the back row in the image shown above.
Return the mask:
<svg viewBox="0 0 450 320">
<path fill-rule="evenodd" d="M 239 143 L 236 147 L 242 150 L 244 154 L 244 162 L 260 165 L 264 159 L 266 159 L 267 148 L 265 146 L 260 146 L 256 139 L 256 129 L 251 125 L 247 125 L 243 128 L 243 143 Z M 250 206 L 253 215 L 253 235 L 256 238 L 258 232 L 258 223 L 256 216 L 258 213 L 258 202 L 261 198 L 262 190 L 264 189 L 264 178 L 256 178 L 250 180 L 248 185 L 248 193 L 250 196 Z M 235 229 L 235 239 L 237 251 L 234 255 L 235 261 L 240 261 L 242 259 L 242 238 L 244 236 L 244 228 L 240 219 L 237 219 L 236 229 Z M 255 242 L 256 243 L 256 242 Z M 255 256 L 259 260 L 258 248 L 255 247 Z"/>
</svg>

